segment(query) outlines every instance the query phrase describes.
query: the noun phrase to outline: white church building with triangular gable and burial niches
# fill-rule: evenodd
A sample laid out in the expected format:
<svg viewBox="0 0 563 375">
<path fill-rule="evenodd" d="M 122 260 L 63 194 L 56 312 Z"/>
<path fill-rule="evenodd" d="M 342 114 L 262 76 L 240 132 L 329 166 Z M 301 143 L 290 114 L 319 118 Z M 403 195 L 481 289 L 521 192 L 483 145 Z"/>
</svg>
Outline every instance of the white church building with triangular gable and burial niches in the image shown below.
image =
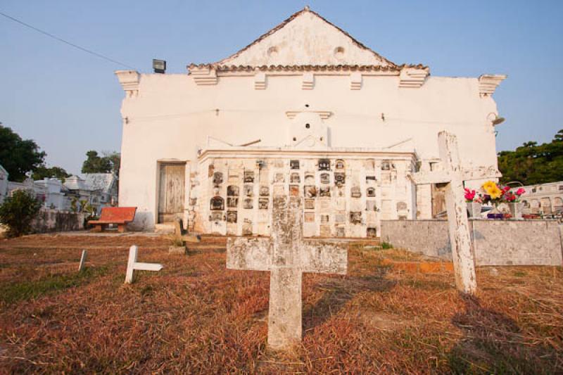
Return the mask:
<svg viewBox="0 0 563 375">
<path fill-rule="evenodd" d="M 397 65 L 308 8 L 187 74 L 115 74 L 119 202 L 137 207 L 137 229 L 181 218 L 199 233 L 267 236 L 284 194 L 303 197 L 305 236 L 379 236 L 381 220 L 439 210 L 439 189 L 408 174 L 440 167 L 441 130 L 457 135 L 464 167 L 497 167 L 491 95 L 504 75 Z"/>
</svg>

